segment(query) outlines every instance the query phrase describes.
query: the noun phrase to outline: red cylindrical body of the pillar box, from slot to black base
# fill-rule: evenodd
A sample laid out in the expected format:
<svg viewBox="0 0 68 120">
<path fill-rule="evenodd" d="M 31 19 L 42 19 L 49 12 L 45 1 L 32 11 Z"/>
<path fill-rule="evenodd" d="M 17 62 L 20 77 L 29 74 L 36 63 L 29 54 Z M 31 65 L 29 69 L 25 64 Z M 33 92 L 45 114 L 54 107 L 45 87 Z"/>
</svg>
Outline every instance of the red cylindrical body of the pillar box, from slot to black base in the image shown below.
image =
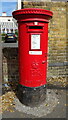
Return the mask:
<svg viewBox="0 0 68 120">
<path fill-rule="evenodd" d="M 19 26 L 20 39 L 20 83 L 27 87 L 46 84 L 47 70 L 47 24 L 28 29 L 26 24 Z M 38 28 L 38 29 L 37 29 Z"/>
</svg>

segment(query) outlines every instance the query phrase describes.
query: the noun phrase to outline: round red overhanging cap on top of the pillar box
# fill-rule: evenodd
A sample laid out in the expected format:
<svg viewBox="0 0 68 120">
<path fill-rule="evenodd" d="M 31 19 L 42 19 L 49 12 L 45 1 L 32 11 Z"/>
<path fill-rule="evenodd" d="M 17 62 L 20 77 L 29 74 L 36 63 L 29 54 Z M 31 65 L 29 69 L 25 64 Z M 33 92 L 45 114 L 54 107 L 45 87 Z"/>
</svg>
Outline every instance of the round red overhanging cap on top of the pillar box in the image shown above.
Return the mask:
<svg viewBox="0 0 68 120">
<path fill-rule="evenodd" d="M 37 19 L 48 21 L 53 16 L 53 13 L 52 11 L 40 9 L 40 8 L 24 8 L 14 11 L 12 15 L 18 21 L 37 20 Z"/>
</svg>

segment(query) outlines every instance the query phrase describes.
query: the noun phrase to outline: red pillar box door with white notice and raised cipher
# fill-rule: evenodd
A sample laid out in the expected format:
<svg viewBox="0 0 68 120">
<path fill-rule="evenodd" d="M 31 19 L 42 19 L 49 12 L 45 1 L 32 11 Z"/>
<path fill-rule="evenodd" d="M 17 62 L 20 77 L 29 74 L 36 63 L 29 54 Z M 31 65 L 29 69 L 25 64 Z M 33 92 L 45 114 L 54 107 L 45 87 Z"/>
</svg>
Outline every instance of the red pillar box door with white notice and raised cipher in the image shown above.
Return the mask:
<svg viewBox="0 0 68 120">
<path fill-rule="evenodd" d="M 39 86 L 46 83 L 47 57 L 46 48 L 43 43 L 43 33 L 30 34 L 30 77 L 33 84 Z M 45 40 L 44 40 L 45 41 Z"/>
</svg>

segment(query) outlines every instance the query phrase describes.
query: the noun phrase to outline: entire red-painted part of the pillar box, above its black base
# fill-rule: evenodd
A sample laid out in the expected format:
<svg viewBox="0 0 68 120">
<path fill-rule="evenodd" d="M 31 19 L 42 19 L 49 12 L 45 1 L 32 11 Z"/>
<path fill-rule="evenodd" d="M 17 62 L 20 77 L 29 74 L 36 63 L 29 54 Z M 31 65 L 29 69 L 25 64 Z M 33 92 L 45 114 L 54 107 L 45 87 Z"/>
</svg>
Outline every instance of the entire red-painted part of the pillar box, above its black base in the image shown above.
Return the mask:
<svg viewBox="0 0 68 120">
<path fill-rule="evenodd" d="M 47 74 L 48 22 L 53 13 L 44 9 L 25 8 L 14 11 L 12 14 L 18 21 L 19 29 L 19 83 L 26 87 L 45 85 Z M 35 22 L 37 23 L 35 24 Z M 40 39 L 40 48 L 31 48 L 32 35 L 34 37 L 40 36 L 38 38 Z M 37 54 L 32 52 L 36 52 Z"/>
</svg>

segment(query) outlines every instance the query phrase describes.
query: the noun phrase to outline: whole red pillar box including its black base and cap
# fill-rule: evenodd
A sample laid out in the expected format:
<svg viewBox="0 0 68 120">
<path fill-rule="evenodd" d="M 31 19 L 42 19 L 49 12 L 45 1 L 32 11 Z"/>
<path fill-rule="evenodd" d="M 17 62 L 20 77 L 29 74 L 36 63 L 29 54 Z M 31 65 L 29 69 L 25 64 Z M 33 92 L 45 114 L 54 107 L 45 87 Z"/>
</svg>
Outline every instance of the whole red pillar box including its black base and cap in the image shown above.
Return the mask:
<svg viewBox="0 0 68 120">
<path fill-rule="evenodd" d="M 19 33 L 19 100 L 36 105 L 46 98 L 48 22 L 53 13 L 25 8 L 12 14 Z"/>
</svg>

